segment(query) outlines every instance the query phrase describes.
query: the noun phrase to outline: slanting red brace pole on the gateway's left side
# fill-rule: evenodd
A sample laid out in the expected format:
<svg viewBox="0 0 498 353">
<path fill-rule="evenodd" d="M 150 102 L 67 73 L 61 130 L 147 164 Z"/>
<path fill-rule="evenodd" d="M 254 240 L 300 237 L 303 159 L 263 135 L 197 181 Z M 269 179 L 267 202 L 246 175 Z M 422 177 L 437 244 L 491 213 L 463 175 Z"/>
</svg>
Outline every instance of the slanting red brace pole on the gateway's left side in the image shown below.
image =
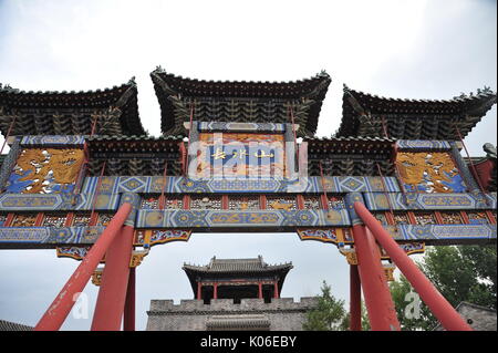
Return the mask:
<svg viewBox="0 0 498 353">
<path fill-rule="evenodd" d="M 107 228 L 102 232 L 97 241 L 92 246 L 83 261 L 68 280 L 61 292 L 49 307 L 46 312 L 34 328 L 35 331 L 55 331 L 64 323 L 65 318 L 73 308 L 74 294 L 81 293 L 89 282 L 90 278 L 104 257 L 105 251 L 114 240 L 116 233 L 122 228 L 124 221 L 132 210 L 131 204 L 123 204 L 114 215 Z"/>
</svg>

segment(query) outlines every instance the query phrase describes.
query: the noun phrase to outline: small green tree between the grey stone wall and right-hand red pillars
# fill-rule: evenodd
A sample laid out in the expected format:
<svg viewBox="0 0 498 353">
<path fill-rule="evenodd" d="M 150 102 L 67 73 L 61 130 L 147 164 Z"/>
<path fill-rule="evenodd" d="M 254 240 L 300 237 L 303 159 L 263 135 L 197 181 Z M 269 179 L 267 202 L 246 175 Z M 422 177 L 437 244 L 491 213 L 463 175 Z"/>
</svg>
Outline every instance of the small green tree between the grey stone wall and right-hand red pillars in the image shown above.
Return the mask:
<svg viewBox="0 0 498 353">
<path fill-rule="evenodd" d="M 318 298 L 317 308 L 307 314 L 303 330 L 307 331 L 341 331 L 344 330 L 346 311 L 344 301 L 335 299 L 331 293 L 331 287 L 325 281 L 322 283 L 322 294 Z"/>
</svg>

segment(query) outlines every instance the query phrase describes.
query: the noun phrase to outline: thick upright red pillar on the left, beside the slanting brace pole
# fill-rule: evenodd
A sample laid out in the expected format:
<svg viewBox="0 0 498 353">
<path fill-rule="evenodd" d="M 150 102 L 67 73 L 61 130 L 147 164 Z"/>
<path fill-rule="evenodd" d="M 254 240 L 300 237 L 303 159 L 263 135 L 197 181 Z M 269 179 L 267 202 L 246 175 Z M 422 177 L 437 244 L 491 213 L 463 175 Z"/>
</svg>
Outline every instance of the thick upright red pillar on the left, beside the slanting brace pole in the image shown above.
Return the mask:
<svg viewBox="0 0 498 353">
<path fill-rule="evenodd" d="M 95 313 L 93 314 L 92 331 L 121 330 L 128 287 L 133 235 L 134 228 L 124 226 L 121 235 L 111 243 L 105 256 L 105 267 L 95 304 Z"/>
</svg>

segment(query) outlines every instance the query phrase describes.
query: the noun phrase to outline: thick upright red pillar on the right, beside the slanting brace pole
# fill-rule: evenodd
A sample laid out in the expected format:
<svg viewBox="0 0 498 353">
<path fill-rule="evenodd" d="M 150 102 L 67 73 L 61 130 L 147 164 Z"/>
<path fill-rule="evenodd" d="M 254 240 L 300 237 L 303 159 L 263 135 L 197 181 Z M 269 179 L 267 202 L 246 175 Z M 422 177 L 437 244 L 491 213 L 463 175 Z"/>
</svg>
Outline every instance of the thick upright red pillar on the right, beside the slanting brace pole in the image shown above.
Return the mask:
<svg viewBox="0 0 498 353">
<path fill-rule="evenodd" d="M 353 226 L 353 238 L 372 330 L 400 331 L 400 322 L 375 240 L 363 225 Z"/>
</svg>

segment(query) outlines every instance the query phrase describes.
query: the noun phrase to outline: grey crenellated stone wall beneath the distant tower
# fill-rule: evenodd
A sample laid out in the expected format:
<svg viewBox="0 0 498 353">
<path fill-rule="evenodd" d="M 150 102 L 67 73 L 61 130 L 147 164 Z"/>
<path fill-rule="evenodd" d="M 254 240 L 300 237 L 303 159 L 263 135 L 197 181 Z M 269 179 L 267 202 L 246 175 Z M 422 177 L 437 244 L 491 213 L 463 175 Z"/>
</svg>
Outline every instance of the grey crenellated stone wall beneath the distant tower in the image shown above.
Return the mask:
<svg viewBox="0 0 498 353">
<path fill-rule="evenodd" d="M 232 299 L 212 299 L 210 304 L 201 300 L 152 300 L 147 311 L 147 331 L 205 331 L 206 322 L 216 316 L 234 315 L 238 319 L 260 314 L 270 322 L 270 331 L 301 331 L 307 311 L 317 305 L 315 298 L 242 299 L 235 304 Z"/>
</svg>

